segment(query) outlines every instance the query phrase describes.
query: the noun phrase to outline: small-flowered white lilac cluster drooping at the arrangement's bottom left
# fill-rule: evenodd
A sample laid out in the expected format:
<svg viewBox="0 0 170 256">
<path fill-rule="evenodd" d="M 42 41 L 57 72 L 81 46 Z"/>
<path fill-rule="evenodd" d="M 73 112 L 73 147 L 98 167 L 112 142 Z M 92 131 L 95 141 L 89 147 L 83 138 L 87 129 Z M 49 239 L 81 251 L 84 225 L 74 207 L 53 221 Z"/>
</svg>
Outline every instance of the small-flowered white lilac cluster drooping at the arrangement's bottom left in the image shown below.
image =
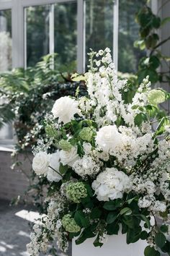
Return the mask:
<svg viewBox="0 0 170 256">
<path fill-rule="evenodd" d="M 27 244 L 27 252 L 37 256 L 40 251 L 46 253 L 48 250 L 49 237 L 57 242 L 58 249 L 63 252 L 68 250 L 67 232 L 63 230 L 61 213 L 65 208 L 66 200 L 61 195 L 54 195 L 49 200 L 48 215 L 42 218 L 42 223 L 35 224 L 30 235 L 31 242 Z"/>
</svg>

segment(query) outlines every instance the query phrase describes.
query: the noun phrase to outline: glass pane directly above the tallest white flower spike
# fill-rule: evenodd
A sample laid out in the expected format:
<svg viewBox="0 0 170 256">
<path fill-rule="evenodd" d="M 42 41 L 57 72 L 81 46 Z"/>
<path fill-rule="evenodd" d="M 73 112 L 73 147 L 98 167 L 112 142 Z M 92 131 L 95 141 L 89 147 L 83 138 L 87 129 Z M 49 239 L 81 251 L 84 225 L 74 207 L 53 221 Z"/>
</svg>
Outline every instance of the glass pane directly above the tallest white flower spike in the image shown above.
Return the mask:
<svg viewBox="0 0 170 256">
<path fill-rule="evenodd" d="M 113 1 L 86 0 L 86 53 L 109 47 L 113 43 Z M 87 61 L 86 61 L 87 63 Z"/>
</svg>

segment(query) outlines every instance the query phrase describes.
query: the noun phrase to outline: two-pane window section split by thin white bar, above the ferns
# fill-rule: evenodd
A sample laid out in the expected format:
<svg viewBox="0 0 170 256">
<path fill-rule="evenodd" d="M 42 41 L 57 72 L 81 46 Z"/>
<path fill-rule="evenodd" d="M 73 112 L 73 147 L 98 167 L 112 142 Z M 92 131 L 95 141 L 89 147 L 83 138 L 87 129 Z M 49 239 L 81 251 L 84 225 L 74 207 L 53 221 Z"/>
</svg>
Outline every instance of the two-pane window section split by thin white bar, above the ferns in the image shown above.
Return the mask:
<svg viewBox="0 0 170 256">
<path fill-rule="evenodd" d="M 25 8 L 27 67 L 46 54 L 58 54 L 58 65 L 76 62 L 76 1 Z"/>
</svg>

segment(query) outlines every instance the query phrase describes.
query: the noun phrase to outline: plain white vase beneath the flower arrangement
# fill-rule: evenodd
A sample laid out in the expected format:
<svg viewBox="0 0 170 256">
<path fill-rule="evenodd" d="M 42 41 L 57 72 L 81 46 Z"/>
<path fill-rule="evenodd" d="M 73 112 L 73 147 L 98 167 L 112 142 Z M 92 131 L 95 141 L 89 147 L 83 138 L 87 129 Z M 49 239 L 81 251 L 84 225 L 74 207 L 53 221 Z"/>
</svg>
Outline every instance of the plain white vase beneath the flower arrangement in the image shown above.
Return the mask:
<svg viewBox="0 0 170 256">
<path fill-rule="evenodd" d="M 109 236 L 108 242 L 102 247 L 94 247 L 94 239 L 86 239 L 84 243 L 78 245 L 73 239 L 72 256 L 144 256 L 144 249 L 147 246 L 145 240 L 126 244 L 125 234 Z"/>
</svg>

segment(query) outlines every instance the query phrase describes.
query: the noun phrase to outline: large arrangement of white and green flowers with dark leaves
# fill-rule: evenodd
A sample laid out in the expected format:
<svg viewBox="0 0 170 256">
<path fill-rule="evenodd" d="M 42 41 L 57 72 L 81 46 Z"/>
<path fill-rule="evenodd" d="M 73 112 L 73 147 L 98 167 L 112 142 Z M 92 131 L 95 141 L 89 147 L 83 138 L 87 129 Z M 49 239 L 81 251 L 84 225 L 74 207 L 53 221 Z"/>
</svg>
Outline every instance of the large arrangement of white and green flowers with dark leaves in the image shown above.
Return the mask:
<svg viewBox="0 0 170 256">
<path fill-rule="evenodd" d="M 122 226 L 128 244 L 146 239 L 145 256 L 170 253 L 170 122 L 158 118 L 158 103 L 169 93 L 151 90 L 146 77 L 130 96 L 132 85 L 117 79 L 109 48 L 89 57 L 88 97 L 77 90 L 77 98 L 55 101 L 53 118 L 45 120 L 52 135 L 35 149 L 32 168 L 47 176 L 50 197 L 27 250 L 39 255 L 57 239 L 66 252 L 68 237 L 77 237 L 76 244 L 95 237 L 101 247 Z M 163 224 L 151 226 L 151 216 Z"/>
</svg>

